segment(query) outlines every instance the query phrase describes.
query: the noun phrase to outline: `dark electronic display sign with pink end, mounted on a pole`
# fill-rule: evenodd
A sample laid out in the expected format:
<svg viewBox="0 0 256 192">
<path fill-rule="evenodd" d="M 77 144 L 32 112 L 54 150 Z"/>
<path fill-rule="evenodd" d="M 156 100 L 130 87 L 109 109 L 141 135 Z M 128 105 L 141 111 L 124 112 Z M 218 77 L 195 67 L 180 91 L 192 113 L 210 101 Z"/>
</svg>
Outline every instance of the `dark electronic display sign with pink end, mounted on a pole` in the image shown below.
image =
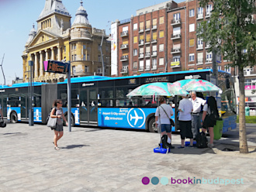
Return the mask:
<svg viewBox="0 0 256 192">
<path fill-rule="evenodd" d="M 45 72 L 67 74 L 69 63 L 63 63 L 57 60 L 45 60 L 43 61 L 43 67 Z"/>
</svg>

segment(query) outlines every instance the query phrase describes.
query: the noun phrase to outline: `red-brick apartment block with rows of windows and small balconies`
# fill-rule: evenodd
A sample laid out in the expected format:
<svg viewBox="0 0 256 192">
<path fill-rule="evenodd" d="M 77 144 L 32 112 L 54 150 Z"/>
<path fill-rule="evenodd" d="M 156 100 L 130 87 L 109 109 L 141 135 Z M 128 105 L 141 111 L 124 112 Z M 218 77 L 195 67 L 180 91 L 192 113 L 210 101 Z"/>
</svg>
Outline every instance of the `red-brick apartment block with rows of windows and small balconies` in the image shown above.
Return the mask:
<svg viewBox="0 0 256 192">
<path fill-rule="evenodd" d="M 112 77 L 212 68 L 213 53 L 196 33 L 212 9 L 199 0 L 168 1 L 112 22 Z M 220 62 L 219 70 L 234 74 L 227 60 Z"/>
</svg>

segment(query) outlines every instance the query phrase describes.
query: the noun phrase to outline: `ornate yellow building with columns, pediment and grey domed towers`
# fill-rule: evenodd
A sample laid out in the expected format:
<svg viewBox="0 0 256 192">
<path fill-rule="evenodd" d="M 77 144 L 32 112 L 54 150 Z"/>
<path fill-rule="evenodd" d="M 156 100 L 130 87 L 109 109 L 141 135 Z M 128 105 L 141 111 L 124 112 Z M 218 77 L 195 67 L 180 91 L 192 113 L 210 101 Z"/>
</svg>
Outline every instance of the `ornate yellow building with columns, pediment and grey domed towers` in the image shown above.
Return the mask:
<svg viewBox="0 0 256 192">
<path fill-rule="evenodd" d="M 92 28 L 82 1 L 72 25 L 71 15 L 61 0 L 46 0 L 36 22 L 37 31 L 34 26 L 30 30 L 22 54 L 23 81 L 29 81 L 29 60 L 34 62 L 33 77 L 38 82 L 59 82 L 66 78 L 64 74 L 45 73 L 44 60 L 71 61 L 72 77 L 102 75 L 102 58 L 104 66 L 109 65 L 109 36 L 105 29 Z M 110 76 L 110 69 L 104 68 L 105 75 Z"/>
</svg>

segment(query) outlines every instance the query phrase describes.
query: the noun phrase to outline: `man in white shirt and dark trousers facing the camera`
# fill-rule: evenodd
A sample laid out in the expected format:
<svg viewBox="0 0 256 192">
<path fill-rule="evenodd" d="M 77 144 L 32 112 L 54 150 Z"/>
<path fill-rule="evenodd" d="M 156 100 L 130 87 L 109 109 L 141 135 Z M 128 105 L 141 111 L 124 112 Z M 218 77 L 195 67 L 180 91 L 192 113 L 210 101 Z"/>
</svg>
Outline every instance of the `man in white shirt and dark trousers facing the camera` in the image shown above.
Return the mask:
<svg viewBox="0 0 256 192">
<path fill-rule="evenodd" d="M 201 106 L 206 104 L 206 100 L 203 100 L 202 98 L 197 98 L 195 91 L 192 91 L 191 98 L 189 98 L 190 101 L 192 101 L 193 105 L 193 111 L 192 111 L 192 133 L 193 137 L 195 139 L 195 136 L 199 133 L 200 129 L 200 111 Z"/>
</svg>

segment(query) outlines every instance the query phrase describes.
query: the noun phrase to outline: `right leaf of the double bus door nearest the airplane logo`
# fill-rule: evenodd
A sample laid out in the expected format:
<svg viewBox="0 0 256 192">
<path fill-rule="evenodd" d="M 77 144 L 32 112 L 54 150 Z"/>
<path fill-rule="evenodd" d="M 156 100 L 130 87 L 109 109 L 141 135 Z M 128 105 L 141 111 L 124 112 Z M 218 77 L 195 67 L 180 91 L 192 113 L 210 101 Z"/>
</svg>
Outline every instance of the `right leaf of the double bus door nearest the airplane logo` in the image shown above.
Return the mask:
<svg viewBox="0 0 256 192">
<path fill-rule="evenodd" d="M 98 100 L 97 89 L 88 90 L 88 120 L 90 125 L 97 125 L 98 122 Z"/>
</svg>

